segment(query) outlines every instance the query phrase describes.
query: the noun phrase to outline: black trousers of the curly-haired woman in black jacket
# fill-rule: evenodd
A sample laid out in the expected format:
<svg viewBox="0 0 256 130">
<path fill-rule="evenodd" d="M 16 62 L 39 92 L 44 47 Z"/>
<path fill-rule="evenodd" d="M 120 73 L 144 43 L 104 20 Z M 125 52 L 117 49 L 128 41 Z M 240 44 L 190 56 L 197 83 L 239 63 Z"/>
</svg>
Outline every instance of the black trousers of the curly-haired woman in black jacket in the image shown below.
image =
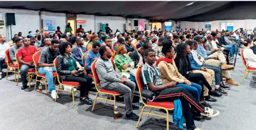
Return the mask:
<svg viewBox="0 0 256 130">
<path fill-rule="evenodd" d="M 82 76 L 66 76 L 62 81 L 79 82 L 80 83 L 80 97 L 88 96 L 89 89 L 92 88 L 92 78 L 88 75 Z"/>
</svg>

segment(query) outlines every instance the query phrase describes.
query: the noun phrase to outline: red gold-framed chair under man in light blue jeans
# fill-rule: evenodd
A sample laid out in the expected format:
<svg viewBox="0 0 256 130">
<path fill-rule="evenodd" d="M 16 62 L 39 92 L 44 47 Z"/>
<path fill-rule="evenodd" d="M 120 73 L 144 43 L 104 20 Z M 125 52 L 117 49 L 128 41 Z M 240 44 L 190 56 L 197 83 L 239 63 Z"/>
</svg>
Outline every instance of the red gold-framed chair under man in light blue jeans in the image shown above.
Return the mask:
<svg viewBox="0 0 256 130">
<path fill-rule="evenodd" d="M 35 64 L 35 68 L 37 68 L 37 66 L 38 66 L 40 54 L 41 54 L 41 51 L 38 51 L 38 52 L 35 52 L 35 54 L 33 55 L 33 61 L 34 61 L 34 64 Z M 47 89 L 46 75 L 38 73 L 37 69 L 35 69 L 35 74 L 37 75 L 37 77 L 35 78 L 35 89 L 37 88 L 37 82 L 40 82 L 40 80 L 38 80 L 37 78 L 38 77 L 44 78 L 43 82 L 46 84 L 46 95 L 47 95 L 48 94 L 48 89 Z M 56 82 L 56 76 L 57 76 L 57 73 L 53 72 L 53 78 L 55 78 L 54 82 Z"/>
</svg>

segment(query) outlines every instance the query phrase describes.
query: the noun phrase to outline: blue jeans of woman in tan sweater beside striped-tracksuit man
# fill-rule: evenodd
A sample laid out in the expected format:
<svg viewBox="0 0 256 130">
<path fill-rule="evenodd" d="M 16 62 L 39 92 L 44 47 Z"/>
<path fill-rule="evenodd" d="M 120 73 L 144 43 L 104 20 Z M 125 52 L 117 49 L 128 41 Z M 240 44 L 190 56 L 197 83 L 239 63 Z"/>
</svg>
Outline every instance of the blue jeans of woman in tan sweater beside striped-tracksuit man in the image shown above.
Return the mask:
<svg viewBox="0 0 256 130">
<path fill-rule="evenodd" d="M 191 86 L 186 85 L 185 83 L 177 83 L 176 87 L 185 88 L 189 93 L 193 95 L 193 97 L 199 100 L 199 96 L 202 91 L 202 86 L 198 85 L 197 83 L 191 82 Z"/>
</svg>

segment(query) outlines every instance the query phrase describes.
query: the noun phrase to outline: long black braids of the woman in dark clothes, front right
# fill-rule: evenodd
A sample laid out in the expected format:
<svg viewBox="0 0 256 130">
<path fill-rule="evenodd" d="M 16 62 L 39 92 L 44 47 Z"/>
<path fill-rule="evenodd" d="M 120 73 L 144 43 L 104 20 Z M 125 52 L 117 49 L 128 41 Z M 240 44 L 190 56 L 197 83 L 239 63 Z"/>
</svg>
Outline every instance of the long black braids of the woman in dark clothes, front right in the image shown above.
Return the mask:
<svg viewBox="0 0 256 130">
<path fill-rule="evenodd" d="M 189 58 L 185 52 L 185 48 L 187 46 L 188 44 L 186 43 L 177 45 L 177 57 L 174 59 L 177 69 L 183 76 L 185 76 L 186 73 L 191 70 Z"/>
</svg>

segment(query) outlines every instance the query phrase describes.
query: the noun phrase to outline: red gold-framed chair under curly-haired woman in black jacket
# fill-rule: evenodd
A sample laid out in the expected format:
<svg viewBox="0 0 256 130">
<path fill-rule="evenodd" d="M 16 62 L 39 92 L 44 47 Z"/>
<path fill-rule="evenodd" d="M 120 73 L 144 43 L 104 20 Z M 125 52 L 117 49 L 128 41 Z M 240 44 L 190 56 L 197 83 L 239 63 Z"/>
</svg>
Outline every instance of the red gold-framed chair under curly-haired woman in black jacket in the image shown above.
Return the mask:
<svg viewBox="0 0 256 130">
<path fill-rule="evenodd" d="M 55 60 L 53 61 L 54 67 L 55 67 L 55 69 L 56 69 L 57 79 L 58 79 L 58 82 L 59 82 L 58 89 L 57 89 L 57 95 L 56 95 L 55 101 L 57 101 L 57 97 L 58 97 L 59 91 L 70 92 L 70 94 L 72 95 L 73 107 L 74 107 L 74 106 L 75 106 L 74 88 L 77 87 L 77 86 L 80 86 L 80 83 L 79 83 L 79 82 L 67 82 L 67 81 L 62 81 L 62 82 L 61 82 L 61 80 L 59 80 L 59 74 L 58 74 L 58 72 L 57 72 L 57 60 L 58 60 L 58 57 L 55 58 Z M 59 86 L 71 86 L 72 89 L 71 89 L 71 91 L 65 90 L 65 89 L 60 89 Z M 63 88 L 63 87 L 62 87 L 62 88 Z"/>
</svg>

